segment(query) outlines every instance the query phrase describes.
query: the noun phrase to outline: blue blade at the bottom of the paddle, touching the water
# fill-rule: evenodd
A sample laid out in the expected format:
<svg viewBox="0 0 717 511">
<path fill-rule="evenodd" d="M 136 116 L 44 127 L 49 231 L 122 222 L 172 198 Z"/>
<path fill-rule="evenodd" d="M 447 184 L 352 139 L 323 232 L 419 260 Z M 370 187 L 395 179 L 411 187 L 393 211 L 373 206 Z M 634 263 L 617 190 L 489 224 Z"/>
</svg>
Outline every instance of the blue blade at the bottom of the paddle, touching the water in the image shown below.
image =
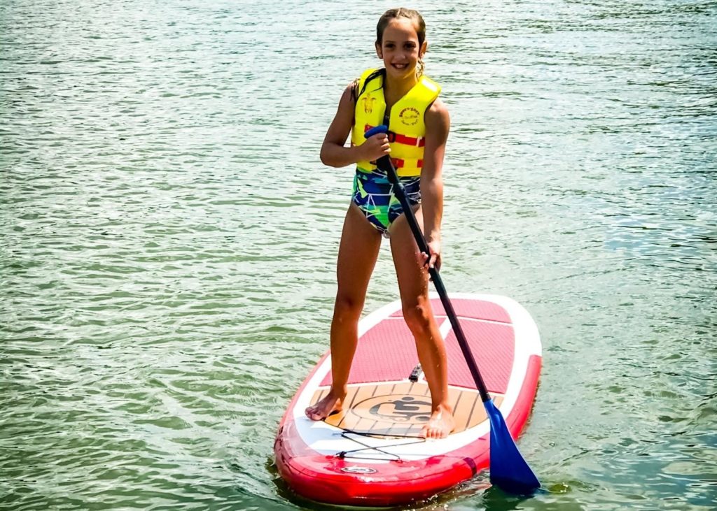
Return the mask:
<svg viewBox="0 0 717 511">
<path fill-rule="evenodd" d="M 503 414 L 493 404 L 484 401 L 490 419 L 490 482 L 513 495 L 529 495 L 540 487 L 540 481 L 518 451 L 508 431 Z"/>
</svg>

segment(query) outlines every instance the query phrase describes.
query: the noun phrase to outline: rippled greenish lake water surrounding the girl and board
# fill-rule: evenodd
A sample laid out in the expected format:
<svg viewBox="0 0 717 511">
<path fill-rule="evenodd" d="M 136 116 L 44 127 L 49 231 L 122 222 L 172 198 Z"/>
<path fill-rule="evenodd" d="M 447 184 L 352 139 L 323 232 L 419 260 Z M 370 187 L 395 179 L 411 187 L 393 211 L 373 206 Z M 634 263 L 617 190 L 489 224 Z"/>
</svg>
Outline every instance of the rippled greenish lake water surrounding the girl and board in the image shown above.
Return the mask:
<svg viewBox="0 0 717 511">
<path fill-rule="evenodd" d="M 383 1 L 0 5 L 0 508 L 295 510 L 277 423 L 328 347 L 353 170 L 318 150 Z M 717 4 L 413 4 L 452 113 L 449 291 L 511 296 L 545 491 L 717 501 Z M 366 303 L 397 297 L 388 245 Z"/>
</svg>

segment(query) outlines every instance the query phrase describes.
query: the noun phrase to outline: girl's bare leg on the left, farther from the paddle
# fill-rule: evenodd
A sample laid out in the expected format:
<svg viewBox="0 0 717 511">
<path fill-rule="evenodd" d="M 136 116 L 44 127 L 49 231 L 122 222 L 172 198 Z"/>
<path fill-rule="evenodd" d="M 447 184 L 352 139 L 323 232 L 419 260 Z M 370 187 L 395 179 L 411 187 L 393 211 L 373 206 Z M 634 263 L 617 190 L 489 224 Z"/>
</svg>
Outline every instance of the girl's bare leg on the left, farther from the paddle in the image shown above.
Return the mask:
<svg viewBox="0 0 717 511">
<path fill-rule="evenodd" d="M 314 421 L 326 419 L 343 406 L 348 372 L 359 342 L 359 317 L 379 248 L 381 233 L 366 220 L 358 206 L 351 203 L 343 220 L 338 248 L 338 291 L 331 321 L 331 389 L 323 399 L 306 409 L 306 417 Z"/>
</svg>

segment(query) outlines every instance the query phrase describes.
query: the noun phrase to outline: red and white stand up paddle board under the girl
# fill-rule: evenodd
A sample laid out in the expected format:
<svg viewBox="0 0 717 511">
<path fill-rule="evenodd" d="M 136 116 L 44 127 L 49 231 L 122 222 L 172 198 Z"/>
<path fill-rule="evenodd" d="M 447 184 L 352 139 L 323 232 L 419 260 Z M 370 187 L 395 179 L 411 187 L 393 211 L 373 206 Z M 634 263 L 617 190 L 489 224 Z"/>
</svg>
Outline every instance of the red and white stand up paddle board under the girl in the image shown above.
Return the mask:
<svg viewBox="0 0 717 511">
<path fill-rule="evenodd" d="M 531 412 L 541 369 L 536 323 L 505 296 L 452 293 L 450 298 L 488 391 L 516 438 Z M 418 437 L 430 416 L 430 393 L 401 302 L 389 303 L 359 322 L 343 411 L 318 422 L 304 414 L 331 386 L 327 353 L 281 420 L 276 464 L 298 495 L 337 505 L 402 505 L 488 467 L 485 408 L 435 293 L 431 306 L 446 344 L 455 430 L 440 440 Z"/>
</svg>

